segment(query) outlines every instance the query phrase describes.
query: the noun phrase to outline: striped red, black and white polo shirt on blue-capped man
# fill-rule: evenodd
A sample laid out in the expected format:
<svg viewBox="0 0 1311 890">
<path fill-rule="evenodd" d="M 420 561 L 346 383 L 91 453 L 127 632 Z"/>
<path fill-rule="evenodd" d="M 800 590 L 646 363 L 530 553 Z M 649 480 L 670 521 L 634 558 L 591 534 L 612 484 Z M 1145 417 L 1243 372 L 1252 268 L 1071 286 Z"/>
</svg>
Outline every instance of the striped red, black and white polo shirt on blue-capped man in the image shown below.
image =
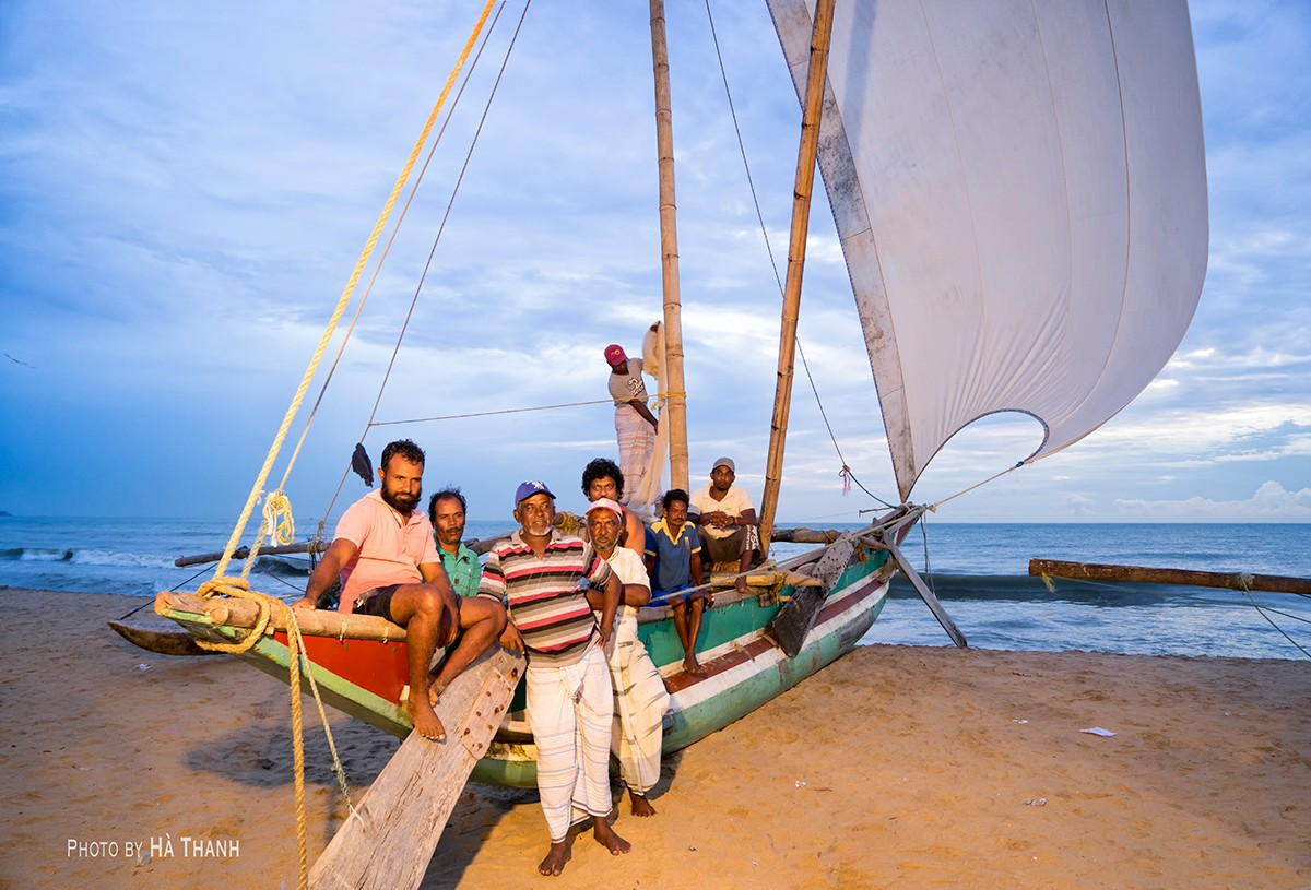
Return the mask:
<svg viewBox="0 0 1311 890">
<path fill-rule="evenodd" d="M 565 666 L 582 657 L 597 628 L 579 582 L 600 587 L 610 574 L 610 564 L 581 537 L 552 528 L 539 560 L 517 531 L 488 552 L 479 595 L 505 599 L 530 661 Z"/>
</svg>

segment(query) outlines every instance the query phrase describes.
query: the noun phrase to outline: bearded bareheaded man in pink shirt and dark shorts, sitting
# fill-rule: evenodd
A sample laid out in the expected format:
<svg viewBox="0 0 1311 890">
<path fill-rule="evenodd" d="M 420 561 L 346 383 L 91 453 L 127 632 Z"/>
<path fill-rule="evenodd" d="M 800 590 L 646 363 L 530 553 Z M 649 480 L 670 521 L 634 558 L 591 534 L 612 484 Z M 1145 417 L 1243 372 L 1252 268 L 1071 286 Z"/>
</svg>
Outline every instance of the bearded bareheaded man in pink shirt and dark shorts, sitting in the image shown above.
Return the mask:
<svg viewBox="0 0 1311 890">
<path fill-rule="evenodd" d="M 309 575 L 294 608 L 313 608 L 341 577 L 342 612 L 379 615 L 405 628 L 409 693 L 405 713 L 423 738 L 446 738 L 433 705 L 442 689 L 492 645 L 505 628 L 497 598 L 458 600 L 442 569 L 433 527 L 422 510 L 423 450 L 409 439 L 383 448 L 382 489 L 350 505 L 336 537 Z M 463 633 L 461 633 L 463 632 Z M 433 654 L 460 636 L 438 672 Z"/>
</svg>

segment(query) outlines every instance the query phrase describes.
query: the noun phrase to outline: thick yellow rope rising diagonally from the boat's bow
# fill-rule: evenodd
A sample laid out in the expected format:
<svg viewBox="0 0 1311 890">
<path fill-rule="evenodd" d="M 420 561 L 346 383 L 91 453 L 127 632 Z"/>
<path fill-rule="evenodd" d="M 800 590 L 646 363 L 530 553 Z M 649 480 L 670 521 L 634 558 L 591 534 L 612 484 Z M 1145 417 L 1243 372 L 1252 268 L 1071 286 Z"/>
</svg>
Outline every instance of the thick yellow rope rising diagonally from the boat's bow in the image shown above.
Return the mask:
<svg viewBox="0 0 1311 890">
<path fill-rule="evenodd" d="M 359 283 L 359 277 L 364 271 L 364 266 L 368 263 L 368 257 L 374 253 L 378 237 L 387 225 L 387 219 L 392 214 L 392 207 L 396 206 L 396 198 L 400 197 L 401 189 L 405 187 L 405 181 L 409 178 L 410 170 L 414 168 L 414 161 L 418 159 L 418 153 L 422 151 L 423 143 L 427 142 L 427 136 L 433 131 L 433 123 L 437 121 L 437 115 L 440 113 L 442 105 L 450 94 L 451 84 L 454 83 L 458 71 L 464 66 L 464 60 L 468 58 L 469 50 L 477 39 L 479 31 L 482 30 L 482 25 L 486 22 L 488 13 L 490 13 L 494 1 L 496 0 L 488 0 L 488 5 L 482 9 L 477 24 L 473 26 L 473 31 L 469 34 L 469 39 L 455 64 L 455 69 L 451 71 L 442 94 L 433 106 L 433 111 L 429 114 L 427 121 L 423 122 L 423 130 L 420 132 L 418 140 L 414 143 L 414 148 L 410 149 L 410 155 L 405 160 L 405 166 L 401 169 L 400 176 L 396 178 L 396 185 L 392 186 L 392 191 L 387 197 L 387 203 L 383 204 L 383 211 L 379 214 L 378 222 L 374 224 L 374 231 L 370 232 L 368 240 L 364 242 L 364 249 L 361 252 L 359 260 L 355 262 L 355 269 L 351 271 L 350 279 L 346 282 L 346 287 L 342 290 L 341 296 L 337 298 L 337 305 L 333 308 L 332 317 L 328 320 L 328 326 L 324 329 L 323 337 L 319 338 L 319 345 L 315 347 L 315 354 L 309 359 L 309 366 L 305 368 L 300 385 L 296 387 L 296 393 L 291 397 L 291 404 L 287 406 L 287 412 L 282 418 L 282 425 L 273 436 L 273 444 L 269 447 L 269 454 L 265 455 L 264 465 L 256 474 L 254 485 L 250 486 L 250 494 L 246 497 L 245 506 L 241 509 L 241 515 L 237 518 L 237 522 L 232 528 L 232 536 L 223 548 L 223 557 L 219 560 L 219 565 L 214 571 L 215 581 L 223 577 L 227 571 L 228 562 L 232 560 L 232 553 L 237 549 L 237 543 L 241 540 L 241 532 L 245 531 L 246 523 L 250 520 L 250 514 L 254 511 L 254 505 L 260 499 L 260 493 L 264 490 L 264 484 L 267 481 L 269 473 L 273 472 L 273 461 L 277 459 L 278 452 L 282 451 L 282 443 L 287 438 L 287 431 L 291 429 L 291 421 L 295 418 L 296 412 L 300 410 L 300 402 L 304 400 L 305 391 L 309 389 L 309 383 L 313 380 L 315 372 L 319 370 L 319 362 L 323 360 L 323 355 L 328 350 L 328 343 L 332 339 L 333 333 L 337 330 L 337 322 L 341 321 L 341 316 L 346 312 L 346 305 L 350 303 L 350 298 L 355 292 L 355 284 Z M 256 544 L 258 544 L 258 539 L 256 540 Z M 258 549 L 258 547 L 253 549 Z"/>
</svg>

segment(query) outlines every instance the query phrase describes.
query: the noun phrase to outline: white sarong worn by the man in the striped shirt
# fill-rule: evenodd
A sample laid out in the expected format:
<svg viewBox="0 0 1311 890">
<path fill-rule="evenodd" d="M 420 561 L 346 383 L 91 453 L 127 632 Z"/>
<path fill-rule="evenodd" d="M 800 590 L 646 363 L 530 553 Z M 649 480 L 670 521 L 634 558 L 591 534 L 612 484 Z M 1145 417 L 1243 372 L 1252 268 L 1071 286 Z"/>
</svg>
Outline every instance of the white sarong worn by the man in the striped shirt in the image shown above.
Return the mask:
<svg viewBox="0 0 1311 890">
<path fill-rule="evenodd" d="M 528 724 L 538 746 L 538 793 L 551 843 L 589 815 L 610 815 L 610 735 L 615 700 L 595 640 L 568 667 L 528 662 Z"/>
</svg>

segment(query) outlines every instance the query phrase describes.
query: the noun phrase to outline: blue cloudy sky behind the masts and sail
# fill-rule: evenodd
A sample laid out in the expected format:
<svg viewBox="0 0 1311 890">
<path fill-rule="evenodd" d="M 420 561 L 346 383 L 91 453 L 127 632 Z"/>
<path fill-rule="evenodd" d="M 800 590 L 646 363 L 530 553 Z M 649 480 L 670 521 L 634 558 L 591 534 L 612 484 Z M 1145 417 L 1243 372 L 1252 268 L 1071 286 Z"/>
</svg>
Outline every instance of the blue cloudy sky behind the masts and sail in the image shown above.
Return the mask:
<svg viewBox="0 0 1311 890">
<path fill-rule="evenodd" d="M 0 510 L 239 514 L 477 5 L 0 4 Z M 577 509 L 582 465 L 615 455 L 607 405 L 391 422 L 604 398 L 602 349 L 635 353 L 659 317 L 650 37 L 627 5 L 502 9 L 313 412 L 286 488 L 302 528 L 363 493 L 342 484 L 362 436 L 375 460 L 413 438 L 427 490 L 460 485 L 486 520 L 527 478 Z M 781 263 L 796 94 L 764 4 L 711 9 Z M 1037 444 L 1023 418 L 958 434 L 912 493 L 936 520 L 1311 522 L 1311 4 L 1190 14 L 1210 262 L 1188 334 L 1100 430 L 953 498 Z M 777 284 L 705 4 L 667 18 L 692 484 L 730 455 L 759 502 Z M 805 281 L 823 416 L 798 374 L 779 516 L 856 522 L 880 505 L 843 494 L 844 463 L 895 486 L 822 198 Z"/>
</svg>

